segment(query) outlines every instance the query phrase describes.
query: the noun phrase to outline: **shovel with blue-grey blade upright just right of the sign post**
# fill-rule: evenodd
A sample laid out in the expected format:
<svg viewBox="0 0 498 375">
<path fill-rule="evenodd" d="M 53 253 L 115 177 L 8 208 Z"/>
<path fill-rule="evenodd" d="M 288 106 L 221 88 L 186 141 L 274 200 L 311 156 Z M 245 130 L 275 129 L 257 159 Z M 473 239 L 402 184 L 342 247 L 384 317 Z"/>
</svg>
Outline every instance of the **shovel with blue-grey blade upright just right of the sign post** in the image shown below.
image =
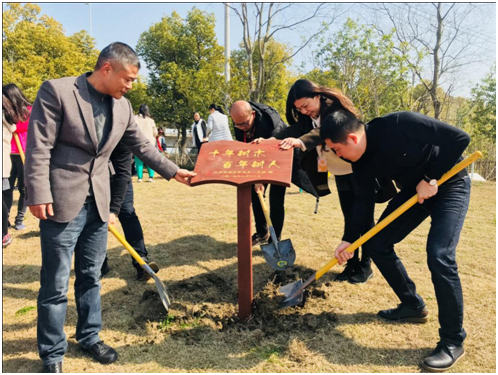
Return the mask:
<svg viewBox="0 0 498 375">
<path fill-rule="evenodd" d="M 277 240 L 277 235 L 275 234 L 275 229 L 273 228 L 273 224 L 270 219 L 268 207 L 266 207 L 265 200 L 263 199 L 263 193 L 261 191 L 258 191 L 258 197 L 261 202 L 261 207 L 263 207 L 263 212 L 265 213 L 266 222 L 268 223 L 272 239 L 271 244 L 261 245 L 263 256 L 265 257 L 266 262 L 274 270 L 286 270 L 294 264 L 294 261 L 296 260 L 296 252 L 294 251 L 291 240 Z"/>
</svg>

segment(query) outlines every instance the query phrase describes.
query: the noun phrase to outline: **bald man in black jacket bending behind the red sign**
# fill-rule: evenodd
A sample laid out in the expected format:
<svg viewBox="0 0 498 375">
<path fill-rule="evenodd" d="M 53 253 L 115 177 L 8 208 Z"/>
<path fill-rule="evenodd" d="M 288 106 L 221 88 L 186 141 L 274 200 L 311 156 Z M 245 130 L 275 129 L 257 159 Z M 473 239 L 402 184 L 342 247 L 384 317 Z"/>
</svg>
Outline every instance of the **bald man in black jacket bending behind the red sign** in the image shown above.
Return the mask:
<svg viewBox="0 0 498 375">
<path fill-rule="evenodd" d="M 270 106 L 260 103 L 236 101 L 230 108 L 230 117 L 235 125 L 235 139 L 240 142 L 250 143 L 256 138 L 274 137 L 285 128 L 279 113 Z M 263 208 L 259 202 L 257 190 L 266 190 L 268 184 L 255 185 L 251 189 L 252 210 L 256 224 L 256 233 L 252 236 L 252 245 L 256 246 L 269 239 Z M 275 234 L 280 239 L 284 226 L 285 186 L 271 185 L 270 189 L 270 218 L 275 228 Z"/>
</svg>

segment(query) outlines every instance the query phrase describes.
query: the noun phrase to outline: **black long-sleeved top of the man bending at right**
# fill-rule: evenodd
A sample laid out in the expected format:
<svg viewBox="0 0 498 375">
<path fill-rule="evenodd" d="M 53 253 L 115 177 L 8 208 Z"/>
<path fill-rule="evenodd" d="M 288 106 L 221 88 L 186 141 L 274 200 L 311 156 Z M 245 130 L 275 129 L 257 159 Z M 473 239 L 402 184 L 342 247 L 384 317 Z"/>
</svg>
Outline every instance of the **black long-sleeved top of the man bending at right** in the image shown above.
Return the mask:
<svg viewBox="0 0 498 375">
<path fill-rule="evenodd" d="M 470 137 L 463 130 L 442 121 L 414 112 L 396 112 L 378 117 L 365 125 L 367 148 L 362 157 L 353 165 L 353 173 L 358 182 L 367 187 L 355 203 L 356 224 L 345 235 L 346 241 L 353 242 L 360 233 L 363 220 L 371 217 L 375 203 L 375 178 L 387 177 L 396 181 L 398 187 L 413 190 L 424 175 L 439 179 L 459 160 L 467 148 Z M 446 184 L 467 175 L 459 172 Z M 401 218 L 402 220 L 402 218 Z M 363 226 L 362 226 L 363 225 Z"/>
</svg>

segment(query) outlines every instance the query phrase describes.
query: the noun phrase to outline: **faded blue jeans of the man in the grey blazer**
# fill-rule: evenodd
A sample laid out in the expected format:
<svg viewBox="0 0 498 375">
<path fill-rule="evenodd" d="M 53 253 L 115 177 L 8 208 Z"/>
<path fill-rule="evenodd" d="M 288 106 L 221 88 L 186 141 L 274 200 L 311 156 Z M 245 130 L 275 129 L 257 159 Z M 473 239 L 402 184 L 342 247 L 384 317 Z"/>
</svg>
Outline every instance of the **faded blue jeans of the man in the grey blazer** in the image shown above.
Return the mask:
<svg viewBox="0 0 498 375">
<path fill-rule="evenodd" d="M 42 268 L 38 294 L 38 351 L 44 365 L 62 361 L 67 351 L 64 334 L 71 260 L 75 254 L 74 283 L 78 322 L 76 340 L 89 348 L 102 329 L 100 268 L 107 251 L 107 222 L 95 202 L 85 202 L 69 223 L 40 220 Z"/>
</svg>

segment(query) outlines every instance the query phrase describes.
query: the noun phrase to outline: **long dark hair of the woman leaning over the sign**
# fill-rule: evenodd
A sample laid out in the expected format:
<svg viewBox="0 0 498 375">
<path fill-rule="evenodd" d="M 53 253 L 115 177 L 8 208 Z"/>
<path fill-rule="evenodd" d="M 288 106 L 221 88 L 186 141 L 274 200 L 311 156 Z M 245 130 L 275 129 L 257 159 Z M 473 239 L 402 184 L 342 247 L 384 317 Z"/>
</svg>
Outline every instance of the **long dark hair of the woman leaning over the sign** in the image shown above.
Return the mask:
<svg viewBox="0 0 498 375">
<path fill-rule="evenodd" d="M 302 98 L 314 98 L 320 96 L 320 117 L 325 118 L 326 114 L 334 110 L 344 109 L 358 117 L 358 110 L 353 105 L 351 99 L 344 95 L 341 90 L 331 89 L 325 86 L 318 86 L 307 79 L 299 79 L 289 90 L 285 105 L 285 117 L 289 125 L 299 121 L 309 119 L 309 116 L 301 114 L 294 105 L 296 100 Z"/>
</svg>

